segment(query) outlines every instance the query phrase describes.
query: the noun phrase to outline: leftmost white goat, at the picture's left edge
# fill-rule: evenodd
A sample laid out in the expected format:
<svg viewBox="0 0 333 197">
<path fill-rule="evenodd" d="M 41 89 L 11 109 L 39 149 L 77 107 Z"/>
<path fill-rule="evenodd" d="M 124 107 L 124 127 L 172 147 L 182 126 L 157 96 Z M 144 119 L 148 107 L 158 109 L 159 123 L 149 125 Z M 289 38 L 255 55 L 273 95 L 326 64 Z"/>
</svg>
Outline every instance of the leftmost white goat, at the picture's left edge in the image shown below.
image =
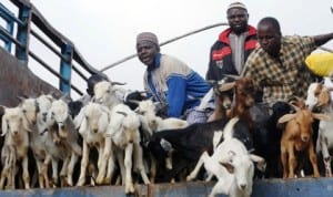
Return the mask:
<svg viewBox="0 0 333 197">
<path fill-rule="evenodd" d="M 24 188 L 30 188 L 30 176 L 28 172 L 28 148 L 30 132 L 28 121 L 22 112 L 22 108 L 3 107 L 4 114 L 2 116 L 2 135 L 4 136 L 4 145 L 13 146 L 17 151 L 18 160 L 22 162 Z M 1 177 L 6 178 L 6 177 Z M 0 180 L 2 183 L 3 180 Z"/>
</svg>

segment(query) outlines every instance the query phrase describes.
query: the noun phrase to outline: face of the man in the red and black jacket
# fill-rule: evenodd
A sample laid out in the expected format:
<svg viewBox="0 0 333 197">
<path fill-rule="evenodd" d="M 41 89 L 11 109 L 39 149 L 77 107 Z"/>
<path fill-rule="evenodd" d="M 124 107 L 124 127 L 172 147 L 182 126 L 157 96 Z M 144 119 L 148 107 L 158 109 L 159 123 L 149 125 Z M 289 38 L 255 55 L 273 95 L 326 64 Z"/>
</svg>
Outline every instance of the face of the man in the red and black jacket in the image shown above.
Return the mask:
<svg viewBox="0 0 333 197">
<path fill-rule="evenodd" d="M 249 14 L 248 14 L 246 10 L 239 9 L 239 8 L 232 8 L 230 10 L 228 10 L 226 18 L 228 18 L 228 22 L 229 22 L 231 30 L 235 34 L 241 34 L 241 33 L 248 31 Z"/>
</svg>

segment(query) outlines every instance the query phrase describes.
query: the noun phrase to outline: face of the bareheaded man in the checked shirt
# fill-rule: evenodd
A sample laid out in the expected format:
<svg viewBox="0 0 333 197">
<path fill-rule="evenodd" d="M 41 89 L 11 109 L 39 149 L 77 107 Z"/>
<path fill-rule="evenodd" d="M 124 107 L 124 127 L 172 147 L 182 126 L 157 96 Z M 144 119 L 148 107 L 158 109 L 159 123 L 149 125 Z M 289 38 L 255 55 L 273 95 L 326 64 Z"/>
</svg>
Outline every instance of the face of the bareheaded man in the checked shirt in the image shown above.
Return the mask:
<svg viewBox="0 0 333 197">
<path fill-rule="evenodd" d="M 271 55 L 279 55 L 281 48 L 281 33 L 271 24 L 258 27 L 258 41 L 260 46 Z"/>
</svg>

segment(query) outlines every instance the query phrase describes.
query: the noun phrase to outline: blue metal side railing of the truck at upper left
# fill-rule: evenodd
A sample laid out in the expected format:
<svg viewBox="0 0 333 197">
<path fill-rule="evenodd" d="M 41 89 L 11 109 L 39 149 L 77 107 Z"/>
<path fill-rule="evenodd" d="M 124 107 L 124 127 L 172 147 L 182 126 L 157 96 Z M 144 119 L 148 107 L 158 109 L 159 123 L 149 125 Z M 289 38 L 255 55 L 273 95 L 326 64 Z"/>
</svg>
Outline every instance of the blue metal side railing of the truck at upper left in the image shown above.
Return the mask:
<svg viewBox="0 0 333 197">
<path fill-rule="evenodd" d="M 58 32 L 30 0 L 8 1 L 18 8 L 18 13 L 0 3 L 0 19 L 6 23 L 4 27 L 0 24 L 0 40 L 3 41 L 4 50 L 13 54 L 23 65 L 29 66 L 29 58 L 33 59 L 59 79 L 59 90 L 68 94 L 75 91 L 77 94 L 82 95 L 78 85 L 72 84 L 73 73 L 84 81 L 88 79 L 84 73 L 104 75 L 83 59 L 74 44 Z M 37 51 L 31 50 L 29 41 L 32 38 L 59 58 L 59 66 L 48 64 Z"/>
</svg>

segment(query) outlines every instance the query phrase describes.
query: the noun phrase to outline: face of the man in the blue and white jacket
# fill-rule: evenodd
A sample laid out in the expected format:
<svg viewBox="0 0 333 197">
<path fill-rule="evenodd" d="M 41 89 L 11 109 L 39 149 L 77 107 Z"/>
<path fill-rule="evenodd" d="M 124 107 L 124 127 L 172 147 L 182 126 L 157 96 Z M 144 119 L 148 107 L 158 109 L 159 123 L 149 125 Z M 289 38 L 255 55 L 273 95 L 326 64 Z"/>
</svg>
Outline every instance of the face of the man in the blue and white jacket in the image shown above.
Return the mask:
<svg viewBox="0 0 333 197">
<path fill-rule="evenodd" d="M 140 41 L 137 43 L 137 53 L 139 60 L 150 66 L 153 65 L 155 55 L 159 53 L 158 46 L 149 41 Z"/>
</svg>

